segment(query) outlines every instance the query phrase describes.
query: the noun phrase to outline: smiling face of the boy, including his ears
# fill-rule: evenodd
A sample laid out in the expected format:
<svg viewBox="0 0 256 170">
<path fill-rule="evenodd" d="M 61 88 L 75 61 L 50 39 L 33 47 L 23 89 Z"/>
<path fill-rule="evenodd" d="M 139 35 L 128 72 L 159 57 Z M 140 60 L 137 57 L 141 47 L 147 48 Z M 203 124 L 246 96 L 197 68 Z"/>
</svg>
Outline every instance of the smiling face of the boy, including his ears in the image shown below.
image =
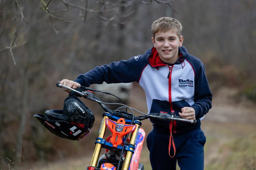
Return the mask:
<svg viewBox="0 0 256 170">
<path fill-rule="evenodd" d="M 159 57 L 165 63 L 174 64 L 178 59 L 178 49 L 182 46 L 183 36 L 178 37 L 176 31 L 157 32 L 152 42 Z"/>
</svg>

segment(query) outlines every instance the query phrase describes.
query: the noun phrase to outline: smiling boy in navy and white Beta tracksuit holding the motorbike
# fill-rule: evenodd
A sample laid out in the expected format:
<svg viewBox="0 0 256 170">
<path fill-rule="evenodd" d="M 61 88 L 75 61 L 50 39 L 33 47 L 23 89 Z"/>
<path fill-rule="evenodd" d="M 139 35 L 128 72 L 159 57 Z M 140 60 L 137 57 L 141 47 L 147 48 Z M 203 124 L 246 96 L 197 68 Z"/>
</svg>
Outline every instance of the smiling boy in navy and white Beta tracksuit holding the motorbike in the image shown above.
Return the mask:
<svg viewBox="0 0 256 170">
<path fill-rule="evenodd" d="M 201 119 L 211 109 L 212 94 L 204 65 L 182 46 L 182 25 L 176 19 L 162 17 L 152 24 L 154 47 L 127 61 L 95 67 L 74 81 L 62 80 L 68 87 L 91 84 L 138 82 L 144 89 L 148 112 L 167 112 L 197 123 L 156 121 L 147 136 L 153 170 L 204 168 L 204 144 Z"/>
</svg>

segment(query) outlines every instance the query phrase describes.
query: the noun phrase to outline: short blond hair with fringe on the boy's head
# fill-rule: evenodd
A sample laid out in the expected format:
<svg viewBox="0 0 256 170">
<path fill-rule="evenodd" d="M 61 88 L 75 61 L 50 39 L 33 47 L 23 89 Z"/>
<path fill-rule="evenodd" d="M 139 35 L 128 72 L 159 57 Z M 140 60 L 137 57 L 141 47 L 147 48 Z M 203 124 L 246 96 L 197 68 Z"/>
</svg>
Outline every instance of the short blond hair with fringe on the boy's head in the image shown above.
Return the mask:
<svg viewBox="0 0 256 170">
<path fill-rule="evenodd" d="M 177 19 L 171 17 L 162 17 L 155 20 L 151 26 L 151 30 L 154 39 L 157 32 L 166 31 L 176 31 L 179 38 L 182 36 L 182 24 Z"/>
</svg>

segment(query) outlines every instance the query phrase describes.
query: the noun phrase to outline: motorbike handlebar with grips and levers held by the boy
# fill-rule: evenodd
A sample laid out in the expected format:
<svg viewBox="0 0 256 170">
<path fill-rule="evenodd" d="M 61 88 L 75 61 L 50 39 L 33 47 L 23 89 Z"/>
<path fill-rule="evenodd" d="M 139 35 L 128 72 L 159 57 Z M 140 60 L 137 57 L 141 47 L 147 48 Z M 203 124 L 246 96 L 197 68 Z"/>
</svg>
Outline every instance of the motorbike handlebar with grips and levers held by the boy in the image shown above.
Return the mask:
<svg viewBox="0 0 256 170">
<path fill-rule="evenodd" d="M 182 121 L 182 122 L 188 122 L 188 123 L 191 123 L 191 124 L 196 124 L 196 122 L 197 122 L 196 120 L 183 119 L 182 117 L 176 116 L 175 114 L 171 114 L 170 115 L 170 114 L 162 113 L 162 112 L 160 112 L 160 113 L 145 114 L 145 113 L 140 112 L 140 111 L 138 111 L 136 109 L 133 109 L 133 108 L 131 108 L 131 107 L 125 105 L 125 104 L 121 104 L 121 103 L 105 103 L 105 102 L 102 102 L 100 99 L 98 99 L 97 97 L 94 96 L 93 92 L 95 92 L 97 90 L 94 90 L 92 88 L 81 86 L 80 88 L 77 88 L 77 90 L 76 90 L 76 89 L 67 87 L 65 85 L 62 85 L 60 83 L 60 81 L 56 83 L 56 86 L 57 87 L 61 87 L 61 88 L 66 88 L 67 90 L 71 90 L 73 92 L 76 92 L 78 94 L 78 97 L 84 97 L 85 99 L 92 100 L 94 102 L 99 103 L 100 106 L 102 107 L 102 109 L 104 109 L 106 112 L 109 112 L 111 114 L 116 112 L 116 110 L 109 109 L 105 104 L 123 105 L 123 107 L 126 107 L 126 108 L 130 109 L 131 112 L 133 112 L 132 110 L 135 110 L 136 112 L 139 112 L 140 114 L 143 114 L 143 116 L 137 116 L 137 117 L 133 118 L 133 119 L 136 119 L 136 120 L 139 120 L 139 121 L 144 120 L 144 119 L 157 119 L 157 120 L 161 120 L 161 121 L 168 121 L 168 120 L 170 120 L 170 121 Z M 97 91 L 97 92 L 100 92 L 100 91 Z M 107 93 L 107 92 L 102 92 L 102 93 Z M 131 114 L 128 113 L 128 112 L 126 112 L 126 114 L 131 116 Z M 132 113 L 132 116 L 133 116 L 133 113 Z"/>
</svg>

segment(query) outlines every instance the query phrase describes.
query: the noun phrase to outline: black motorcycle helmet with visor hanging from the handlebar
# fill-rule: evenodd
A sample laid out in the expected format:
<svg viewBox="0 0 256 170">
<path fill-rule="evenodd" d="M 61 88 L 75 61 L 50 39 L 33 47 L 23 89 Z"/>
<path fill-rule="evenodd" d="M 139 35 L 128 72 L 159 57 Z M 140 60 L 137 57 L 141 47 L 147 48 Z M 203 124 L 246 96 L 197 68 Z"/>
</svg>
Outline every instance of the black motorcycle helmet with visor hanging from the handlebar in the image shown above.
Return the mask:
<svg viewBox="0 0 256 170">
<path fill-rule="evenodd" d="M 64 101 L 63 110 L 46 110 L 34 117 L 51 133 L 70 140 L 80 140 L 90 134 L 94 122 L 93 112 L 71 92 Z"/>
</svg>

